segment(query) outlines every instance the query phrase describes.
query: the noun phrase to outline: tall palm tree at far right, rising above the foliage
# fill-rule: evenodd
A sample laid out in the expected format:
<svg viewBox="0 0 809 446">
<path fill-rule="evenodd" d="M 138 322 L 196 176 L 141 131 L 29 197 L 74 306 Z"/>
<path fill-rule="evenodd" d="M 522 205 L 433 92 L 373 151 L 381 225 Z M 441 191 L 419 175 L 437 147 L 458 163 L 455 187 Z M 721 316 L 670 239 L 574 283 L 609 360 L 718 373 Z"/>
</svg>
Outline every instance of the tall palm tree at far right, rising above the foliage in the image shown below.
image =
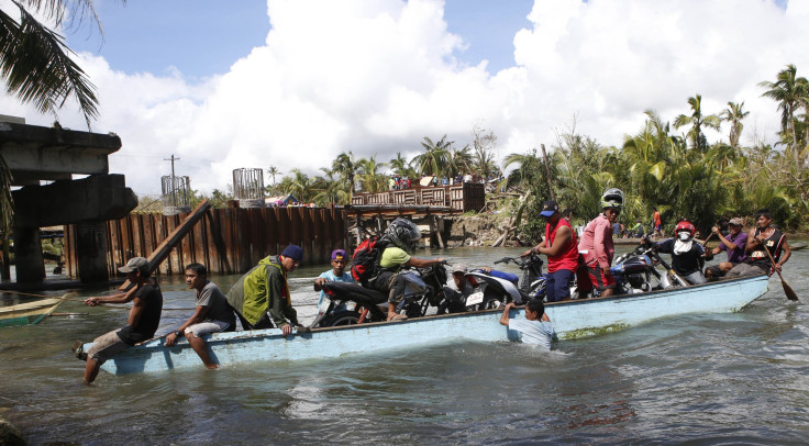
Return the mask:
<svg viewBox="0 0 809 446">
<path fill-rule="evenodd" d="M 797 77 L 798 69 L 795 65 L 787 65 L 776 76 L 776 81 L 758 82 L 760 87 L 767 89 L 762 96 L 778 102 L 780 110 L 780 129 L 784 134 L 793 136 L 793 150 L 797 156 L 798 152 L 798 133 L 795 130 L 795 113 L 800 108 L 801 102 L 806 103 L 809 97 L 809 82 L 804 77 Z"/>
</svg>

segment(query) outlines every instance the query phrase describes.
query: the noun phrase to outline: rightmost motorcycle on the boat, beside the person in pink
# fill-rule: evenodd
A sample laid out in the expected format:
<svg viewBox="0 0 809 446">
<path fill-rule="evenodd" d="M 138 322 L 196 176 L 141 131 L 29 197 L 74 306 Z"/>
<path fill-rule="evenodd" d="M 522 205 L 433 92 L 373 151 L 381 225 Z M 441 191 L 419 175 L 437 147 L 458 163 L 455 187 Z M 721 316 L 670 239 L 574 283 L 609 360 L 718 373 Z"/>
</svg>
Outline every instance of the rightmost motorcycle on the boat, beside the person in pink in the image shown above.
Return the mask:
<svg viewBox="0 0 809 446">
<path fill-rule="evenodd" d="M 666 269 L 665 274 L 657 270 L 657 265 Z M 644 239 L 633 250 L 616 258 L 610 272 L 616 278 L 618 293 L 631 294 L 661 290 L 671 288 L 674 283 L 687 286 L 683 278 L 663 260 L 654 243 L 649 239 Z M 656 279 L 656 285 L 653 285 L 652 277 Z"/>
</svg>

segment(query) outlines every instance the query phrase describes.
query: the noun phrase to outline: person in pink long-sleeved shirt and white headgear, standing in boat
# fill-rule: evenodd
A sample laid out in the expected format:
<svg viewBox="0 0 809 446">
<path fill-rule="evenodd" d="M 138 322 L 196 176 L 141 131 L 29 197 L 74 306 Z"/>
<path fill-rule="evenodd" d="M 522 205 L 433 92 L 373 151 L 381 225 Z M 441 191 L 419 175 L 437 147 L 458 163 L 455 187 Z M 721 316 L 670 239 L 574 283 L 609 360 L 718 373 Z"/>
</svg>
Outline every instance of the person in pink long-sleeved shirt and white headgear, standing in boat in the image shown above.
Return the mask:
<svg viewBox="0 0 809 446">
<path fill-rule="evenodd" d="M 616 278 L 610 272 L 616 247 L 612 243 L 612 224 L 623 208 L 623 191 L 607 189 L 601 196 L 603 212 L 587 223 L 578 250 L 584 257 L 587 272 L 590 276 L 592 289 L 601 297 L 609 297 L 616 292 Z"/>
</svg>

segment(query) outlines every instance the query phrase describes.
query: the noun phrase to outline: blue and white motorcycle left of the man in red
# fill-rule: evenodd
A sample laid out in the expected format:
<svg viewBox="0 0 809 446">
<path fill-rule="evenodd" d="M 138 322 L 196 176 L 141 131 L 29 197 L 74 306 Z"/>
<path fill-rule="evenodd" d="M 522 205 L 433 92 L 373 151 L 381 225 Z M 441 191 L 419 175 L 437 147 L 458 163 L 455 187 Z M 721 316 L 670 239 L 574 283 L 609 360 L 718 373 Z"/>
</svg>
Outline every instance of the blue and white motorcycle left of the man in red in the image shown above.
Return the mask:
<svg viewBox="0 0 809 446">
<path fill-rule="evenodd" d="M 476 269 L 466 272 L 464 277 L 475 288 L 475 292 L 466 297 L 461 293 L 447 297 L 439 306 L 439 314 L 490 310 L 508 302 L 522 304 L 529 299 L 544 299 L 545 278 L 542 275 L 542 258 L 532 254 L 528 258 L 503 257 L 495 261 L 495 264 L 510 263 L 522 270 L 522 277 L 496 270 Z"/>
</svg>

